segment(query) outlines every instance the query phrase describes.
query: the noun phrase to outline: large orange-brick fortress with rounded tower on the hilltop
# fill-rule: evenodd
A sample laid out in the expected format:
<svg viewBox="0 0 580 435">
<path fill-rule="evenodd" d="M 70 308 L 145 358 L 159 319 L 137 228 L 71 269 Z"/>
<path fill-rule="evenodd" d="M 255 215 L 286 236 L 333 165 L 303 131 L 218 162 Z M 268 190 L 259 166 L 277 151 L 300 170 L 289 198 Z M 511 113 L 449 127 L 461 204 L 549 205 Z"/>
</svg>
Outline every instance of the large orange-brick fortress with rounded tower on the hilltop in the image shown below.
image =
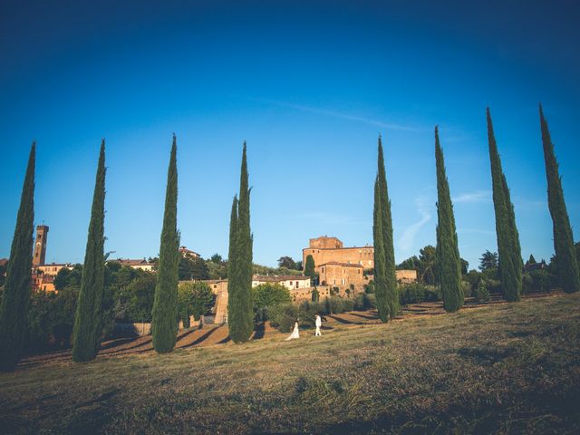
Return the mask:
<svg viewBox="0 0 580 435">
<path fill-rule="evenodd" d="M 306 266 L 307 256 L 313 256 L 316 267 L 333 262 L 359 265 L 364 269 L 374 267 L 373 247 L 344 247 L 343 242 L 336 237 L 311 238 L 308 247 L 302 250 L 304 266 Z"/>
</svg>

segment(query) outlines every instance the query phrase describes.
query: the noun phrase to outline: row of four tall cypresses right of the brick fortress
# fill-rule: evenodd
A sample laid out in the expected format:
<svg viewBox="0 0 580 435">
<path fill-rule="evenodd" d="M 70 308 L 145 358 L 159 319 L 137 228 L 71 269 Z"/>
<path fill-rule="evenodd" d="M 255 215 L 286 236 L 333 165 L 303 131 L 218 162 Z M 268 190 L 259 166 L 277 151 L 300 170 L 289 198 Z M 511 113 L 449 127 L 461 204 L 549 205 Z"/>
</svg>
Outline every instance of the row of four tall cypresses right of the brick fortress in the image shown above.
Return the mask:
<svg viewBox="0 0 580 435">
<path fill-rule="evenodd" d="M 558 174 L 554 144 L 550 138 L 541 104 L 539 112 L 546 163 L 548 206 L 554 224 L 554 250 L 556 252 L 558 279 L 566 293 L 574 293 L 580 290 L 580 271 L 575 256 L 574 237 L 565 208 L 564 192 Z M 486 110 L 486 115 L 501 289 L 503 297 L 508 302 L 516 302 L 522 294 L 523 266 L 516 215 L 507 187 L 506 176 L 501 167 L 489 108 Z M 379 137 L 378 154 L 379 168 L 374 183 L 372 219 L 374 283 L 379 317 L 383 322 L 387 322 L 396 315 L 398 299 L 396 297 L 394 253 L 392 248 L 391 202 L 386 187 L 381 137 Z M 440 146 L 438 127 L 435 127 L 435 165 L 437 172 L 438 217 L 437 258 L 440 285 L 445 310 L 454 312 L 458 311 L 464 302 L 464 295 L 461 289 L 461 260 L 453 205 L 449 193 L 449 181 L 445 173 L 445 162 L 443 150 L 441 150 Z"/>
</svg>

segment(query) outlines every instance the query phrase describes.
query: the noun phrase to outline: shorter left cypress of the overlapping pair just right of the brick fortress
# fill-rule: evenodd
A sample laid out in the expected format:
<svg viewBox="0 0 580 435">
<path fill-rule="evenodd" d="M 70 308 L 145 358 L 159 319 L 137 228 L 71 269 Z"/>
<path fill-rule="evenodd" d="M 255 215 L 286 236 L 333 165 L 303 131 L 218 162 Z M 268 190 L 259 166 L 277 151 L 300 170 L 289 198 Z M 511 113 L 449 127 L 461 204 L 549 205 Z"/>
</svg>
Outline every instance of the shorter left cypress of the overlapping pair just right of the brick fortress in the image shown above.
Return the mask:
<svg viewBox="0 0 580 435">
<path fill-rule="evenodd" d="M 374 207 L 372 210 L 372 244 L 374 247 L 374 295 L 377 311 L 382 322 L 389 321 L 391 307 L 386 289 L 386 266 L 384 259 L 384 237 L 382 237 L 381 183 L 379 175 L 374 179 Z"/>
</svg>

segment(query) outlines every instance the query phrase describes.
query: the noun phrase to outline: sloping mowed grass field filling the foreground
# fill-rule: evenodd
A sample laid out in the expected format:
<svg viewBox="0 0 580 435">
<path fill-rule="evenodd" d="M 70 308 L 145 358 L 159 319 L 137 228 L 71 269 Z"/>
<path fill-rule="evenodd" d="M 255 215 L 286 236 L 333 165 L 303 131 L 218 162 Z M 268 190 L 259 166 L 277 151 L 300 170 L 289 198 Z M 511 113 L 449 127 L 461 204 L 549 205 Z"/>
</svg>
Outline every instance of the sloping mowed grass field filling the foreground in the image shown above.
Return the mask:
<svg viewBox="0 0 580 435">
<path fill-rule="evenodd" d="M 580 295 L 0 374 L 5 433 L 580 433 Z"/>
</svg>

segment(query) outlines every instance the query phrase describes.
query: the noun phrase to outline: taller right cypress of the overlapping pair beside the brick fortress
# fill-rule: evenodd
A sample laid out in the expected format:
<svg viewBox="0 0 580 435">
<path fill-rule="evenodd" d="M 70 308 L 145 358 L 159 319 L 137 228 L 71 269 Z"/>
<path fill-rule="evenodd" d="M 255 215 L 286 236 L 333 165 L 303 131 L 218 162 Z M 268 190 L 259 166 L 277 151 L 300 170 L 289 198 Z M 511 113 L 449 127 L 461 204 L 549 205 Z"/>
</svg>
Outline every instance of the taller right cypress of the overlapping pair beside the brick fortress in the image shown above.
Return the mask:
<svg viewBox="0 0 580 435">
<path fill-rule="evenodd" d="M 382 249 L 385 262 L 384 289 L 389 305 L 389 316 L 393 319 L 399 312 L 399 294 L 397 292 L 395 251 L 392 240 L 391 199 L 389 199 L 389 190 L 387 189 L 387 176 L 384 169 L 381 136 L 379 136 L 377 177 L 379 179 L 379 194 L 381 196 Z"/>
</svg>

